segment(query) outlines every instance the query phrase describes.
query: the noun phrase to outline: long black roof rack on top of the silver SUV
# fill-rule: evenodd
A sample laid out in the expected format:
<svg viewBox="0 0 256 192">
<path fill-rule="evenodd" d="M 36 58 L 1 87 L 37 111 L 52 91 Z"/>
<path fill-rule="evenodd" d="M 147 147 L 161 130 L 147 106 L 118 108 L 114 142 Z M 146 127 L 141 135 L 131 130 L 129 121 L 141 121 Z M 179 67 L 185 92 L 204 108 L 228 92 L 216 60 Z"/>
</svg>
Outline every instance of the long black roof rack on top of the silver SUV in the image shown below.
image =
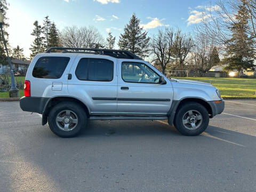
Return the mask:
<svg viewBox="0 0 256 192">
<path fill-rule="evenodd" d="M 63 50 L 62 53 L 87 53 L 87 54 L 101 54 L 109 55 L 119 59 L 140 59 L 137 55 L 130 51 L 124 50 L 109 50 L 109 49 L 94 49 L 94 48 L 77 48 L 77 47 L 51 47 L 45 53 L 51 53 L 52 50 Z M 75 51 L 68 51 L 75 50 Z"/>
</svg>

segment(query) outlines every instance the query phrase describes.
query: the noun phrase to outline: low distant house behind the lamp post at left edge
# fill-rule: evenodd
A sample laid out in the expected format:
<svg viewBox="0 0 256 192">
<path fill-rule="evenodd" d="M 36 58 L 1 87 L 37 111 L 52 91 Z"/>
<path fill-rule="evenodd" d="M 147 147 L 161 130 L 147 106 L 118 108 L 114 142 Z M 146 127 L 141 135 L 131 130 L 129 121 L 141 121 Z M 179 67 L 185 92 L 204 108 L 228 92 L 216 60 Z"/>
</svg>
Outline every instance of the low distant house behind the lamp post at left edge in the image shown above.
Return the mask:
<svg viewBox="0 0 256 192">
<path fill-rule="evenodd" d="M 11 59 L 12 69 L 14 71 L 27 70 L 30 62 L 31 61 L 29 60 L 20 60 L 20 59 L 13 58 Z M 10 69 L 9 65 L 2 65 L 2 63 L 0 63 L 0 74 L 5 73 L 5 71 L 8 71 L 9 69 Z"/>
</svg>

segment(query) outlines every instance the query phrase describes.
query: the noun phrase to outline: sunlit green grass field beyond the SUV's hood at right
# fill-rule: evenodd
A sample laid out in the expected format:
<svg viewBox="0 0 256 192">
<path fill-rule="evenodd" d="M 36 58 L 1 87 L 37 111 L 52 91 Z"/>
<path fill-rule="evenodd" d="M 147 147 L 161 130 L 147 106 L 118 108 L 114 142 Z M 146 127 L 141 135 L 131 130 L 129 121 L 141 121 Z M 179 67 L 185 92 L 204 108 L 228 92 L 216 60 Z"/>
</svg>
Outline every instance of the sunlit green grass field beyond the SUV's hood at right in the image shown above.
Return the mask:
<svg viewBox="0 0 256 192">
<path fill-rule="evenodd" d="M 220 90 L 223 98 L 256 98 L 255 78 L 214 78 L 214 77 L 177 77 L 191 81 L 211 83 Z M 226 80 L 226 81 L 218 81 Z M 236 80 L 236 81 L 234 81 Z"/>
</svg>

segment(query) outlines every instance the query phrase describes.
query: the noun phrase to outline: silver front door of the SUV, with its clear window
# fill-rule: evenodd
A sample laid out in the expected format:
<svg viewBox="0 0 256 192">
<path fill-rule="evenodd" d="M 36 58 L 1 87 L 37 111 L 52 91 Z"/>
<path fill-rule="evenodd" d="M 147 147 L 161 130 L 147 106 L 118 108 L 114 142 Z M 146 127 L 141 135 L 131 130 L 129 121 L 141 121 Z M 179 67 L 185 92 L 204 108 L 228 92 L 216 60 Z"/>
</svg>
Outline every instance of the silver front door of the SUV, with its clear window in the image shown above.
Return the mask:
<svg viewBox="0 0 256 192">
<path fill-rule="evenodd" d="M 145 61 L 119 60 L 117 112 L 126 115 L 166 115 L 172 98 L 172 84 L 159 84 L 162 74 Z"/>
</svg>

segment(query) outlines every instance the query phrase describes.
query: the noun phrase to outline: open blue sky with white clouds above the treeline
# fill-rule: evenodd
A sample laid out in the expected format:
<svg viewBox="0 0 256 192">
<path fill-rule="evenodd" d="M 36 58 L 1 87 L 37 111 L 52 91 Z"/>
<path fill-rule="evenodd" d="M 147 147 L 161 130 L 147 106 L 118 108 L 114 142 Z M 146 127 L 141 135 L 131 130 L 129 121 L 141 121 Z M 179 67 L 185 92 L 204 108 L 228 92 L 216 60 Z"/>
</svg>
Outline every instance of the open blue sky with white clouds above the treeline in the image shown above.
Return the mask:
<svg viewBox="0 0 256 192">
<path fill-rule="evenodd" d="M 200 0 L 7 0 L 10 3 L 7 17 L 11 46 L 20 45 L 29 57 L 33 42 L 33 22 L 42 23 L 49 15 L 58 28 L 65 26 L 95 26 L 103 37 L 111 31 L 118 37 L 133 13 L 149 36 L 165 26 L 190 32 L 202 21 L 202 13 L 209 1 Z M 116 47 L 117 48 L 117 47 Z"/>
</svg>

